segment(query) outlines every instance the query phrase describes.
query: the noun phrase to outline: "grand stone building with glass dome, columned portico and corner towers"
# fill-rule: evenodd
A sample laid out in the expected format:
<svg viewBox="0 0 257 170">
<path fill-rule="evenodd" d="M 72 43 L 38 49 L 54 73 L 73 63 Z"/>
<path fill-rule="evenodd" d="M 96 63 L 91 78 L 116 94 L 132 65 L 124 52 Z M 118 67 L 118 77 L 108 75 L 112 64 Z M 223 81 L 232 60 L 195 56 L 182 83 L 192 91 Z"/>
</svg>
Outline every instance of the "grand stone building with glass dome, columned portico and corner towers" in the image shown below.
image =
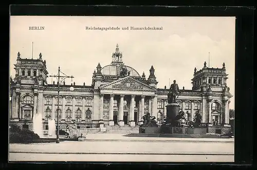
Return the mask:
<svg viewBox="0 0 257 170">
<path fill-rule="evenodd" d="M 117 45 L 110 65 L 100 63 L 93 73 L 90 86 L 47 83 L 46 61 L 23 59 L 17 54 L 15 78 L 10 78 L 10 122 L 32 128 L 33 115 L 41 114 L 44 129 L 49 119 L 57 120 L 60 128 L 75 120 L 78 128 L 136 126 L 142 124 L 142 116 L 150 112 L 161 124 L 166 116 L 169 88 L 157 88 L 155 69 L 150 68 L 149 78 L 140 75 L 133 67 L 123 63 L 123 55 Z M 192 89 L 181 89 L 177 99 L 180 110 L 186 112 L 186 121 L 193 121 L 199 110 L 203 123 L 229 126 L 229 103 L 232 95 L 227 87 L 225 63 L 222 68 L 208 68 L 206 62 L 200 70 L 194 69 Z M 74 87 L 70 91 L 70 86 Z M 59 109 L 58 109 L 59 101 Z"/>
</svg>

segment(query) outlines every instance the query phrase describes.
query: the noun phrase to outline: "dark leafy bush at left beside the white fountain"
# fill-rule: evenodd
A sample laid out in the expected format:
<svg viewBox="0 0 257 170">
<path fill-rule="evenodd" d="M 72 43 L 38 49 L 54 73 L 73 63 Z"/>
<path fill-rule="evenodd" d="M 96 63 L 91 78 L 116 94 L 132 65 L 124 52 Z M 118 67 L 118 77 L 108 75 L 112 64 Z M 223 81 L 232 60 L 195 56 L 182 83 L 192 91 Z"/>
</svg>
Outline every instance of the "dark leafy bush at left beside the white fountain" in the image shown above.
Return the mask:
<svg viewBox="0 0 257 170">
<path fill-rule="evenodd" d="M 16 125 L 11 125 L 10 127 L 10 143 L 31 143 L 39 139 L 38 134 L 29 129 L 21 129 Z"/>
</svg>

